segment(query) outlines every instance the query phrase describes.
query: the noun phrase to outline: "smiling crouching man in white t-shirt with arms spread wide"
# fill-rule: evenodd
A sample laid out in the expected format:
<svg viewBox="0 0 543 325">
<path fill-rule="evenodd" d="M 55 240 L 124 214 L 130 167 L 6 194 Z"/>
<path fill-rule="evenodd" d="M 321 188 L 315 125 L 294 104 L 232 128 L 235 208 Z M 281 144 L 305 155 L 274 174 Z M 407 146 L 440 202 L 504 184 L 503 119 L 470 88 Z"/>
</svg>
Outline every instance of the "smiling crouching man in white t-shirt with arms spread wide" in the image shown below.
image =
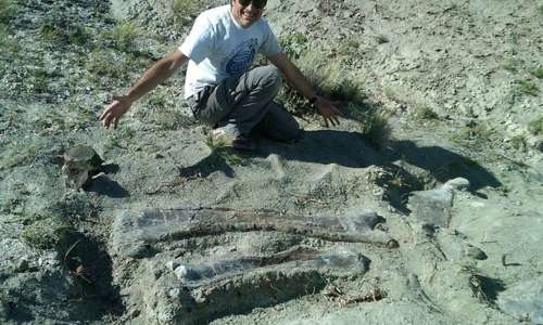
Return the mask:
<svg viewBox="0 0 543 325">
<path fill-rule="evenodd" d="M 282 75 L 328 123 L 339 123 L 338 109 L 319 96 L 300 69 L 282 53 L 268 23 L 262 18 L 266 0 L 231 0 L 200 14 L 185 42 L 149 68 L 126 95 L 115 96 L 100 116 L 116 128 L 132 103 L 169 78 L 188 62 L 185 99 L 194 117 L 214 128 L 213 138 L 239 150 L 252 150 L 257 130 L 277 141 L 300 135 L 295 119 L 273 100 Z M 274 66 L 249 70 L 256 52 Z"/>
</svg>

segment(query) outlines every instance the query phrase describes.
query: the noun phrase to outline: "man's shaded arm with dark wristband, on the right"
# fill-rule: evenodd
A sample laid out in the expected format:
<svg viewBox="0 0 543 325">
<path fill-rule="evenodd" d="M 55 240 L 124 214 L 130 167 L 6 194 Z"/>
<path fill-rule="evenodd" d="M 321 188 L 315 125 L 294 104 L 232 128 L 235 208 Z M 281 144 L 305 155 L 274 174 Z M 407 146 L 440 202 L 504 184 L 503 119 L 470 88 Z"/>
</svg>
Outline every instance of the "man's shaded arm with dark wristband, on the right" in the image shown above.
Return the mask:
<svg viewBox="0 0 543 325">
<path fill-rule="evenodd" d="M 328 122 L 332 126 L 339 125 L 338 115 L 340 112 L 333 104 L 327 99 L 317 95 L 315 89 L 307 81 L 307 78 L 300 72 L 300 69 L 289 60 L 289 57 L 280 52 L 278 54 L 268 56 L 268 60 L 278 67 L 287 78 L 287 80 L 306 99 L 313 99 L 316 96 L 315 107 L 318 114 L 325 119 L 325 123 L 328 127 Z"/>
</svg>

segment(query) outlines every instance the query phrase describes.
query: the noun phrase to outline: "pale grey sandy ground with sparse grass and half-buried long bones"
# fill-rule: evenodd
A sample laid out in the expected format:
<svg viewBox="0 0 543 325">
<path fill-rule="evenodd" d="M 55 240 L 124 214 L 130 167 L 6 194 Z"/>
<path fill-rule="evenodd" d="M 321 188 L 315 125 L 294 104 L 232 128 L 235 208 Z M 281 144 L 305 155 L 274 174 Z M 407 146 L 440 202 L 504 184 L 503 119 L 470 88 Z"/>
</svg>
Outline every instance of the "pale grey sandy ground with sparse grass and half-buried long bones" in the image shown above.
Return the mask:
<svg viewBox="0 0 543 325">
<path fill-rule="evenodd" d="M 1 323 L 543 324 L 541 3 L 269 0 L 365 100 L 251 154 L 210 147 L 184 72 L 97 120 L 201 10 L 172 8 L 0 1 Z M 79 191 L 74 144 L 104 159 Z"/>
</svg>

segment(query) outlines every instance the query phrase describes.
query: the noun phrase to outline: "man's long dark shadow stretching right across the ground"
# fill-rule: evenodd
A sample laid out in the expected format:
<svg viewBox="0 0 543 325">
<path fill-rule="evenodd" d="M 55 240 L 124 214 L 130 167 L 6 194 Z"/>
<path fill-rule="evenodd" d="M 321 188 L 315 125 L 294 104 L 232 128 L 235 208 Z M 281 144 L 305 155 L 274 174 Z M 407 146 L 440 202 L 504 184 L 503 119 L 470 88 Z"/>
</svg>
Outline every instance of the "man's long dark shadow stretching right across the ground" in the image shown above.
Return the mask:
<svg viewBox="0 0 543 325">
<path fill-rule="evenodd" d="M 407 170 L 393 164 L 403 160 L 426 170 L 438 182 L 463 177 L 470 181 L 470 191 L 476 192 L 485 186 L 498 187 L 500 181 L 477 161 L 464 157 L 440 146 L 417 146 L 412 141 L 391 141 L 387 150 L 379 152 L 371 147 L 363 134 L 358 132 L 317 130 L 305 131 L 302 140 L 294 144 L 277 143 L 261 140 L 258 148 L 252 153 L 225 154 L 224 150 L 213 151 L 211 155 L 198 164 L 180 169 L 180 176 L 207 177 L 214 171 L 223 171 L 233 178 L 233 162 L 243 162 L 251 157 L 267 157 L 276 154 L 287 160 L 306 161 L 313 164 L 337 164 L 350 168 L 365 168 L 379 166 L 391 171 L 391 174 L 401 177 L 400 184 L 393 184 L 391 179 L 383 179 L 382 184 L 388 190 L 388 199 L 400 211 L 405 208 L 406 194 L 413 191 L 425 190 L 425 181 Z M 233 159 L 238 157 L 238 160 Z M 242 165 L 242 164 L 236 164 Z"/>
</svg>

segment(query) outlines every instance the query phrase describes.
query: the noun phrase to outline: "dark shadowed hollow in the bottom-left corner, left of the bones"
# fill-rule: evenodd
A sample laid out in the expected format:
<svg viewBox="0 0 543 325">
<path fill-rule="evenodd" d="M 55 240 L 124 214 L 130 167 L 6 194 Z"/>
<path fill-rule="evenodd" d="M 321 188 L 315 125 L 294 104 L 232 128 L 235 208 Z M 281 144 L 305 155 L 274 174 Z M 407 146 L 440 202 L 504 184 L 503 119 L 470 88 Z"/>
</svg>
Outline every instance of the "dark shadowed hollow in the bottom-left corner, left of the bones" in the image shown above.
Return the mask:
<svg viewBox="0 0 543 325">
<path fill-rule="evenodd" d="M 30 269 L 4 278 L 4 285 L 16 289 L 2 300 L 0 323 L 103 324 L 124 313 L 102 243 L 73 231 L 56 250 L 62 271 L 40 274 Z"/>
</svg>

